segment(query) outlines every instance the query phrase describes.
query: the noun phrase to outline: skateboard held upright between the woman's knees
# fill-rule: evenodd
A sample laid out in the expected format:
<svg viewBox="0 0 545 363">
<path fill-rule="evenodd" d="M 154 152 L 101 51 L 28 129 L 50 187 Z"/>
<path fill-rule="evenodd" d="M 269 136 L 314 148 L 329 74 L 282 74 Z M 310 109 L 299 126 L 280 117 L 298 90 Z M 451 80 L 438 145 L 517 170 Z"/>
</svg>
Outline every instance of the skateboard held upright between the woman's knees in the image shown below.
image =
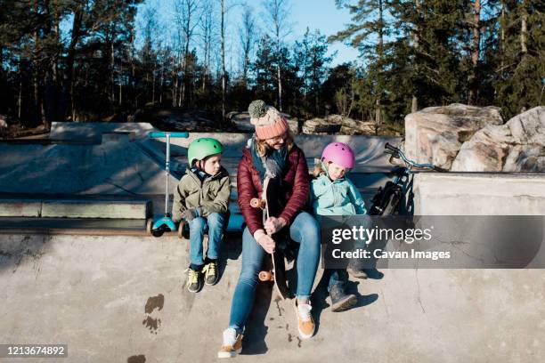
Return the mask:
<svg viewBox="0 0 545 363">
<path fill-rule="evenodd" d="M 280 180 L 278 178 L 265 176 L 262 198 L 252 198 L 250 200 L 250 206 L 263 210 L 263 222 L 265 222 L 269 216 L 279 216 L 284 209 L 281 200 L 278 198 L 280 192 Z M 272 237 L 276 242 L 276 249 L 273 254 L 265 257 L 264 270 L 260 271 L 258 275 L 260 281 L 273 281 L 276 291 L 281 295 L 282 300 L 285 300 L 286 298 L 291 299 L 293 297 L 289 291 L 286 279 L 284 252 L 279 248 L 279 241 L 281 238 L 286 238 L 285 236 L 282 236 L 284 234 L 285 231 L 282 230 L 273 234 Z"/>
</svg>

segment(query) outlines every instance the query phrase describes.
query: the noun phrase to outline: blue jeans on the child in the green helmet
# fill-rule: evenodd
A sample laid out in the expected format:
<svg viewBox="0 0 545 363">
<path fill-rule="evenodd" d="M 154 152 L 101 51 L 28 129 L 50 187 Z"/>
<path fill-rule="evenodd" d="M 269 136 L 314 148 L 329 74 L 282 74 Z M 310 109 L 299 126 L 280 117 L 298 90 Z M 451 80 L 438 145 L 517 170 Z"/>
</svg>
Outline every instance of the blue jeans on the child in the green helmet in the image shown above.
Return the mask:
<svg viewBox="0 0 545 363">
<path fill-rule="evenodd" d="M 190 261 L 191 265 L 204 264 L 202 238 L 208 227 L 207 257 L 216 260 L 219 255 L 220 242 L 225 227 L 225 214 L 211 213 L 207 217 L 193 218 L 190 226 Z"/>
</svg>

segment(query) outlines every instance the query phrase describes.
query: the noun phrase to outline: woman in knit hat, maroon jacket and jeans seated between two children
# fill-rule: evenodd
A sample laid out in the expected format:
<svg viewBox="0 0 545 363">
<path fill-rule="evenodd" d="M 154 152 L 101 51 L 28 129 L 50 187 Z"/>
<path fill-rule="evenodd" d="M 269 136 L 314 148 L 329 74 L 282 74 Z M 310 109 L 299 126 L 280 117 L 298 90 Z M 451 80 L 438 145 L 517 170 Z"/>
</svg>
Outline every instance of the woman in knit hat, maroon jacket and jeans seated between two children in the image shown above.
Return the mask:
<svg viewBox="0 0 545 363">
<path fill-rule="evenodd" d="M 314 334 L 310 294 L 320 260 L 320 229 L 314 217 L 301 210 L 310 190 L 305 154 L 294 143 L 288 123 L 278 110 L 264 101 L 253 101 L 248 110 L 256 133 L 243 150 L 237 173 L 240 212 L 247 227 L 242 235 L 242 269 L 219 358 L 234 357 L 242 350 L 242 333 L 254 304 L 258 273 L 265 255 L 275 250 L 271 235 L 283 229 L 300 245 L 294 299 L 299 335 L 307 339 Z M 263 222 L 263 212 L 250 206 L 250 200 L 262 197 L 265 173 L 280 178 L 282 192 L 278 198 L 283 199 L 285 207 L 278 218 L 271 216 Z"/>
</svg>

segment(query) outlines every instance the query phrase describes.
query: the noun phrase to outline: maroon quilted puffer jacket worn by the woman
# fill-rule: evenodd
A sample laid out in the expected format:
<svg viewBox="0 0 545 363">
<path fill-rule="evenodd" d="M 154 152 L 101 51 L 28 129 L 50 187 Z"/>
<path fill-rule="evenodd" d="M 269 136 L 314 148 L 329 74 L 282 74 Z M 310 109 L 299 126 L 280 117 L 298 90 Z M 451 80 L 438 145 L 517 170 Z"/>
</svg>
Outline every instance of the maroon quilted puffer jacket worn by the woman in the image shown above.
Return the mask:
<svg viewBox="0 0 545 363">
<path fill-rule="evenodd" d="M 306 198 L 310 190 L 310 178 L 308 175 L 308 166 L 306 165 L 305 154 L 297 145 L 293 145 L 288 154 L 289 170 L 284 175 L 284 190 L 286 207 L 279 217 L 285 219 L 291 224 L 297 212 L 305 206 Z M 242 159 L 239 163 L 237 173 L 237 190 L 239 192 L 240 212 L 244 216 L 244 221 L 248 230 L 253 235 L 256 230 L 264 230 L 263 212 L 260 209 L 252 208 L 250 200 L 252 198 L 261 198 L 263 186 L 259 179 L 259 172 L 254 166 L 252 155 L 248 148 L 242 151 Z"/>
</svg>

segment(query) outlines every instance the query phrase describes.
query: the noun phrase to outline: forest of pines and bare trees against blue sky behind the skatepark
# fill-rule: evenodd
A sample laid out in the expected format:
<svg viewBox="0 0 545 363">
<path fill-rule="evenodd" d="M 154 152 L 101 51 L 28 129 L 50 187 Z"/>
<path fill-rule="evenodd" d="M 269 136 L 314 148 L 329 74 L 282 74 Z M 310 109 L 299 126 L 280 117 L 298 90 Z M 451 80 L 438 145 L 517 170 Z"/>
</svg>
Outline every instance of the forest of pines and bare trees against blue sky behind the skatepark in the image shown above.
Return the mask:
<svg viewBox="0 0 545 363">
<path fill-rule="evenodd" d="M 543 103 L 540 1 L 321 0 L 350 21 L 295 36 L 294 1 L 0 0 L 0 114 L 48 130 L 203 109 L 222 125 L 263 99 L 399 129 L 427 106 L 493 105 L 508 119 Z M 338 42 L 354 60 L 335 61 Z"/>
</svg>

